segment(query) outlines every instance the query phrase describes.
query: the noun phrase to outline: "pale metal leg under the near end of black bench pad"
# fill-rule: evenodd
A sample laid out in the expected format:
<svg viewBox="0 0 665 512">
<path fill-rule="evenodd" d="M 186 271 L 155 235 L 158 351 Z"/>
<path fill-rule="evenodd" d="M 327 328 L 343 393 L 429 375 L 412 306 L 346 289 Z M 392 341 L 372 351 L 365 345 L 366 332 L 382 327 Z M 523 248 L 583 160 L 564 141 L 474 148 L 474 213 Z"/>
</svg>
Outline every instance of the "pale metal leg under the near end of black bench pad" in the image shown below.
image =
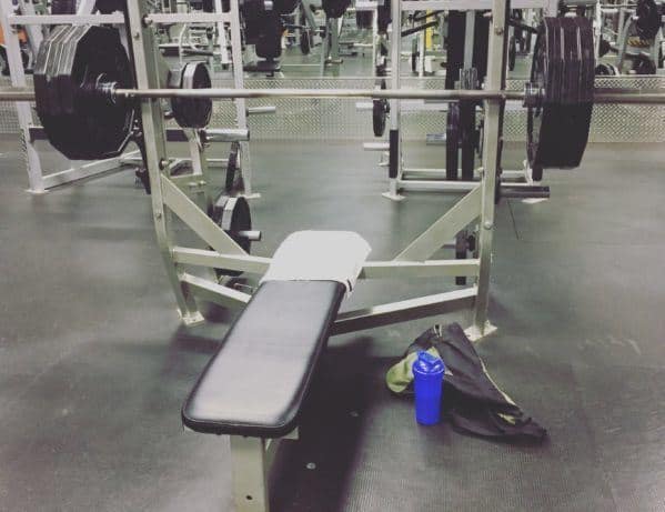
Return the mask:
<svg viewBox="0 0 665 512">
<path fill-rule="evenodd" d="M 231 435 L 236 512 L 269 512 L 265 440 Z"/>
</svg>

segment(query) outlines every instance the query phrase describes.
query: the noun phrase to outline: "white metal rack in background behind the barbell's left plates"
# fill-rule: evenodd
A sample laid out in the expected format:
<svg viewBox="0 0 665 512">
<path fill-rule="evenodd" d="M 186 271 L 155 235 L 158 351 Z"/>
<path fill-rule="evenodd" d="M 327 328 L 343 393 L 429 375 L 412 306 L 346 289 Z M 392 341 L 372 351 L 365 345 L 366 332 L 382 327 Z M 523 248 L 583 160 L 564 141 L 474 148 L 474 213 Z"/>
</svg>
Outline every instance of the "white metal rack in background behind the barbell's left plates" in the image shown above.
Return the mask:
<svg viewBox="0 0 665 512">
<path fill-rule="evenodd" d="M 93 13 L 93 0 L 84 0 L 79 4 L 77 14 L 38 14 L 31 2 L 19 0 L 14 6 L 12 0 L 0 0 L 0 27 L 4 32 L 7 60 L 9 63 L 11 84 L 13 87 L 27 87 L 28 79 L 23 69 L 21 50 L 17 27 L 26 27 L 32 51 L 37 54 L 37 49 L 43 38 L 42 28 L 57 24 L 124 24 L 124 17 L 121 12 L 110 14 Z M 17 12 L 17 7 L 19 11 Z M 219 30 L 225 30 L 224 24 L 229 24 L 231 61 L 233 72 L 233 87 L 243 89 L 244 76 L 242 69 L 242 39 L 240 33 L 240 12 L 238 3 L 231 2 L 231 10 L 222 12 L 221 0 L 214 2 L 215 12 L 177 12 L 177 13 L 154 13 L 150 19 L 155 24 L 167 23 L 209 23 L 216 24 Z M 120 31 L 121 34 L 124 31 Z M 223 41 L 221 39 L 220 41 Z M 248 130 L 248 108 L 246 100 L 236 98 L 233 100 L 235 109 L 235 126 L 239 130 Z M 44 193 L 48 190 L 71 183 L 83 178 L 91 178 L 105 174 L 113 170 L 120 170 L 124 165 L 135 165 L 141 161 L 139 151 L 127 151 L 124 154 L 108 160 L 93 162 L 73 162 L 68 161 L 68 168 L 63 171 L 44 173 L 41 159 L 38 151 L 38 141 L 43 139 L 42 130 L 37 126 L 32 116 L 32 106 L 29 102 L 17 102 L 17 116 L 21 131 L 21 139 L 26 151 L 26 161 L 28 168 L 29 191 L 32 193 Z M 259 113 L 262 113 L 259 112 Z M 169 134 L 171 140 L 187 141 L 189 144 L 191 158 L 189 159 L 193 167 L 200 167 L 199 151 L 197 140 L 193 137 L 182 137 L 183 131 L 171 129 Z M 214 133 L 214 129 L 211 130 Z M 255 198 L 259 194 L 252 190 L 252 169 L 249 151 L 249 142 L 240 141 L 240 168 L 244 179 L 244 194 L 248 198 Z M 211 164 L 225 165 L 225 159 L 210 160 Z"/>
</svg>

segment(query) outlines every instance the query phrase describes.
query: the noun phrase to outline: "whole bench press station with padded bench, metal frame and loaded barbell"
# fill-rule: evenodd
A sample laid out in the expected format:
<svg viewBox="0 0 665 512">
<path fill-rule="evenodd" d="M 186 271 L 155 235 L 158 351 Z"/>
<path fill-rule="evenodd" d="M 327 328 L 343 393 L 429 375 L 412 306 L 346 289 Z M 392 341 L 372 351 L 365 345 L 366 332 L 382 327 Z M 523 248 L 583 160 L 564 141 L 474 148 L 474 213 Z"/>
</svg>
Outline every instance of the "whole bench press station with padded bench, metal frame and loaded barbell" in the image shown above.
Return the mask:
<svg viewBox="0 0 665 512">
<path fill-rule="evenodd" d="M 456 0 L 451 0 L 451 8 L 455 2 Z M 570 144 L 574 142 L 573 157 L 581 159 L 586 138 L 575 139 L 578 131 L 570 133 L 564 129 L 571 121 L 575 123 L 574 127 L 583 126 L 584 116 L 588 114 L 588 131 L 593 102 L 665 103 L 665 94 L 659 91 L 595 91 L 593 72 L 584 74 L 585 81 L 580 80 L 578 83 L 557 81 L 558 74 L 547 72 L 550 64 L 555 63 L 560 74 L 568 79 L 576 76 L 571 74 L 572 70 L 582 74 L 581 67 L 588 70 L 590 64 L 593 64 L 593 52 L 587 51 L 593 48 L 593 38 L 587 37 L 591 34 L 590 27 L 584 21 L 570 22 L 561 21 L 562 19 L 547 19 L 542 24 L 543 33 L 551 37 L 553 42 L 550 46 L 543 42 L 550 40 L 538 39 L 541 48 L 537 54 L 541 58 L 538 62 L 543 63 L 543 74 L 536 73 L 525 92 L 506 91 L 504 79 L 510 2 L 492 0 L 487 2 L 490 3 L 492 20 L 485 90 L 161 89 L 161 56 L 154 33 L 154 24 L 160 22 L 160 18 L 151 14 L 151 2 L 148 0 L 128 1 L 124 10 L 135 88 L 121 88 L 118 83 L 110 82 L 108 77 L 113 71 L 112 68 L 100 70 L 100 74 L 88 73 L 72 80 L 77 78 L 74 73 L 63 71 L 61 66 L 63 62 L 68 66 L 72 62 L 77 64 L 75 59 L 79 57 L 77 51 L 72 51 L 71 56 L 77 56 L 74 61 L 60 61 L 49 57 L 48 52 L 40 52 L 41 69 L 53 69 L 60 73 L 54 74 L 60 79 L 61 90 L 58 91 L 52 86 L 46 89 L 51 92 L 51 104 L 38 91 L 21 88 L 0 90 L 0 100 L 27 102 L 36 99 L 38 111 L 40 108 L 44 110 L 57 107 L 56 116 L 62 114 L 66 120 L 69 120 L 72 111 L 88 118 L 97 109 L 113 113 L 118 113 L 114 109 L 137 109 L 140 113 L 157 241 L 183 322 L 193 324 L 203 321 L 197 300 L 244 308 L 182 410 L 183 423 L 190 430 L 231 435 L 234 495 L 239 511 L 268 511 L 266 474 L 270 452 L 276 445 L 275 440 L 296 435 L 299 414 L 330 335 L 436 317 L 460 309 L 471 309 L 472 320 L 466 332 L 472 340 L 495 329 L 487 319 L 487 304 L 505 101 L 524 100 L 533 123 L 541 123 L 538 138 L 530 139 L 531 158 L 535 160 L 560 158 L 555 145 L 558 139 L 564 139 Z M 231 0 L 231 10 L 236 12 L 238 0 Z M 58 34 L 72 33 L 75 32 L 58 31 Z M 70 44 L 69 41 L 67 39 L 66 43 Z M 56 49 L 62 49 L 63 41 L 52 40 L 50 43 L 53 44 L 50 48 L 54 54 Z M 562 47 L 577 51 L 562 58 L 561 51 L 555 51 Z M 108 48 L 113 51 L 113 46 L 104 47 L 104 51 Z M 592 56 L 591 61 L 587 53 Z M 124 53 L 111 53 L 109 57 L 127 59 Z M 85 63 L 90 62 L 83 62 Z M 78 64 L 74 68 L 81 69 Z M 82 68 L 88 70 L 87 66 Z M 593 71 L 593 66 L 591 70 Z M 49 83 L 53 74 L 44 73 L 42 78 L 46 79 L 44 83 Z M 568 87 L 575 83 L 578 88 L 573 87 L 571 92 Z M 69 96 L 59 96 L 62 91 L 67 91 Z M 182 171 L 182 165 L 178 159 L 169 158 L 162 99 L 208 101 L 212 98 L 229 100 L 263 97 L 483 101 L 485 122 L 481 180 L 389 261 L 365 261 L 369 247 L 360 235 L 349 232 L 294 233 L 282 243 L 274 258 L 251 255 L 245 243 L 253 237 L 251 222 L 248 219 L 235 222 L 236 217 L 242 217 L 240 211 L 246 209 L 246 200 L 224 195 L 213 199 L 204 129 L 187 128 L 193 141 L 190 147 L 197 149 L 198 158 L 192 159 L 191 172 L 177 174 L 177 170 Z M 72 98 L 75 101 L 72 102 Z M 555 116 L 554 122 L 547 117 L 540 118 L 541 109 L 548 116 L 558 117 Z M 223 133 L 218 131 L 216 135 L 228 141 L 246 140 L 249 137 L 248 133 L 235 132 L 238 130 Z M 575 167 L 571 161 L 568 158 L 558 165 L 552 163 L 544 167 Z M 179 243 L 173 215 L 210 249 Z M 477 258 L 433 259 L 456 233 L 472 224 L 480 227 Z M 195 275 L 192 268 L 206 268 L 211 271 L 223 269 L 222 272 L 226 274 L 246 272 L 262 275 L 263 280 L 258 291 L 250 295 L 212 275 L 210 279 Z M 473 279 L 473 284 L 432 295 L 340 312 L 343 295 L 354 288 L 356 279 L 442 277 L 467 277 Z M 252 375 L 260 373 L 262 379 L 271 383 L 262 389 L 261 395 L 252 392 L 255 382 L 244 371 L 248 365 L 252 368 Z"/>
</svg>

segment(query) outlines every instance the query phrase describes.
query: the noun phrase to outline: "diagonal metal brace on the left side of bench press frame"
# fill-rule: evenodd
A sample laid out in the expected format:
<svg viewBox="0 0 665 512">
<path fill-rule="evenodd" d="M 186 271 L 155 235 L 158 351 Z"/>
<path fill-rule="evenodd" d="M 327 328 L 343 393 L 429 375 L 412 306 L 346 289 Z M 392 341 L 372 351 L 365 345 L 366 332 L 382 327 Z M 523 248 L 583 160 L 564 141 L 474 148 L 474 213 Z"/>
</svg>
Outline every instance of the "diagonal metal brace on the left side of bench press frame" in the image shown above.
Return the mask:
<svg viewBox="0 0 665 512">
<path fill-rule="evenodd" d="M 220 254 L 246 254 L 194 201 L 165 175 L 161 177 L 164 204 Z"/>
</svg>

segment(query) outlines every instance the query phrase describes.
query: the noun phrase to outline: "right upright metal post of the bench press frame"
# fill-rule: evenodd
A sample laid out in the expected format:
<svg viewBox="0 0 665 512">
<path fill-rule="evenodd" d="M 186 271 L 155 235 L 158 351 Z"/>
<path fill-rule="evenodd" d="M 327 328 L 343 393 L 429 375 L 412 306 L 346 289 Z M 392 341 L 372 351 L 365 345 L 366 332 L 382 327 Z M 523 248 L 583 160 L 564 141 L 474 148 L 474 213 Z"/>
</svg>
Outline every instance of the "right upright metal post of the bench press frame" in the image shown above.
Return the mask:
<svg viewBox="0 0 665 512">
<path fill-rule="evenodd" d="M 505 81 L 506 19 L 510 0 L 492 1 L 492 21 L 490 23 L 490 44 L 487 56 L 486 89 L 500 89 Z M 490 302 L 490 269 L 492 267 L 492 238 L 494 232 L 494 194 L 496 170 L 500 164 L 502 102 L 485 100 L 485 130 L 483 147 L 483 169 L 480 229 L 480 272 L 477 297 L 473 311 L 473 324 L 468 329 L 471 339 L 482 338 L 495 328 L 487 320 Z"/>
</svg>

